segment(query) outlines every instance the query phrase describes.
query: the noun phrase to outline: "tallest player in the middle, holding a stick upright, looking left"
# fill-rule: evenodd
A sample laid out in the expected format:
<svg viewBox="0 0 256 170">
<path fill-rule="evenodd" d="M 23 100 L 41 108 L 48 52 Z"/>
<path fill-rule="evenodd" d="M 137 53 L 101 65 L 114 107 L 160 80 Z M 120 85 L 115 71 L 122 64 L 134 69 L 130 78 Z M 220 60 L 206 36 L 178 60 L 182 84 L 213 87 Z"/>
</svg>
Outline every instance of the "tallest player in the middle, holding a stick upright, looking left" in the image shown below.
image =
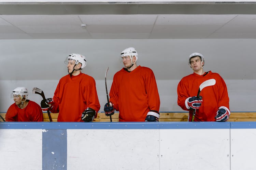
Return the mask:
<svg viewBox="0 0 256 170">
<path fill-rule="evenodd" d="M 105 104 L 106 116 L 119 111 L 119 121 L 158 121 L 160 99 L 155 75 L 150 68 L 137 66 L 138 53 L 127 48 L 121 53 L 125 66 L 115 73 L 110 89 L 110 104 Z"/>
</svg>

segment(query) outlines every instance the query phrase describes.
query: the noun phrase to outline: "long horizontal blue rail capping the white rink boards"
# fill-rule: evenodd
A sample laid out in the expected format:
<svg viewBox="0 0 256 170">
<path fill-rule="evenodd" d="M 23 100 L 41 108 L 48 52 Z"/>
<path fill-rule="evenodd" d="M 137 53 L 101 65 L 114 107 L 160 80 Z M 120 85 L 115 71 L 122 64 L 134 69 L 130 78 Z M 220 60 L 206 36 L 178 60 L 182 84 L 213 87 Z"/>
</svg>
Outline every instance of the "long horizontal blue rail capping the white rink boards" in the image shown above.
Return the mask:
<svg viewBox="0 0 256 170">
<path fill-rule="evenodd" d="M 232 122 L 0 122 L 0 129 L 230 129 Z M 251 122 L 256 126 L 256 122 Z M 239 125 L 243 128 L 242 125 Z M 246 126 L 247 128 L 247 126 Z"/>
</svg>

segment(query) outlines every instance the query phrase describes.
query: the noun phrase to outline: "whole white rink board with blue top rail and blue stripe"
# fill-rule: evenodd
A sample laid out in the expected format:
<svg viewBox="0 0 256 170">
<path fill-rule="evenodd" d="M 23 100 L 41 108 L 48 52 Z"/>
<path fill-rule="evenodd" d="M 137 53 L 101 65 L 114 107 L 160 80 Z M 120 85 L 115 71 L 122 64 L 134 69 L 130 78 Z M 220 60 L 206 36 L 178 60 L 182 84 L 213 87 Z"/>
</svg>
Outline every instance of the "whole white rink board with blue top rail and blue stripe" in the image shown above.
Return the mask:
<svg viewBox="0 0 256 170">
<path fill-rule="evenodd" d="M 256 122 L 1 122 L 1 169 L 254 169 L 255 128 Z"/>
</svg>

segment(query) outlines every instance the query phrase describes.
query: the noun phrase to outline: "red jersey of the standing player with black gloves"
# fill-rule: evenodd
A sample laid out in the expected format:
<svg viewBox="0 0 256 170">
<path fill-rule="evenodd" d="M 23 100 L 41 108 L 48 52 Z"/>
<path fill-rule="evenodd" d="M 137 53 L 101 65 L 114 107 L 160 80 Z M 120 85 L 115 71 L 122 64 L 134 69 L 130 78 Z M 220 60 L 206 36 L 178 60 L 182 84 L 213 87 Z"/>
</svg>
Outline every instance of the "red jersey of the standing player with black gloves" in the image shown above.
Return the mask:
<svg viewBox="0 0 256 170">
<path fill-rule="evenodd" d="M 97 113 L 100 103 L 93 77 L 80 73 L 62 77 L 54 92 L 52 113 L 59 113 L 58 122 L 82 122 L 81 116 L 87 107 Z"/>
</svg>

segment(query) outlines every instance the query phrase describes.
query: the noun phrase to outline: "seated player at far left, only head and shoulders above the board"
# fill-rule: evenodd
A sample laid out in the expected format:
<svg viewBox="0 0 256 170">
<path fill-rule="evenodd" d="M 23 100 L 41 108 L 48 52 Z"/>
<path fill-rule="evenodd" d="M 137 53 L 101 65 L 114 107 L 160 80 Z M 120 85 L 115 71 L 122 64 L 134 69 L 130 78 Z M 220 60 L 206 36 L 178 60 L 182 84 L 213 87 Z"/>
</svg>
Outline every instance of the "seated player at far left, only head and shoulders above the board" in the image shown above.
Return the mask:
<svg viewBox="0 0 256 170">
<path fill-rule="evenodd" d="M 41 107 L 28 100 L 26 87 L 17 87 L 12 91 L 13 103 L 5 114 L 6 122 L 43 122 Z"/>
</svg>

